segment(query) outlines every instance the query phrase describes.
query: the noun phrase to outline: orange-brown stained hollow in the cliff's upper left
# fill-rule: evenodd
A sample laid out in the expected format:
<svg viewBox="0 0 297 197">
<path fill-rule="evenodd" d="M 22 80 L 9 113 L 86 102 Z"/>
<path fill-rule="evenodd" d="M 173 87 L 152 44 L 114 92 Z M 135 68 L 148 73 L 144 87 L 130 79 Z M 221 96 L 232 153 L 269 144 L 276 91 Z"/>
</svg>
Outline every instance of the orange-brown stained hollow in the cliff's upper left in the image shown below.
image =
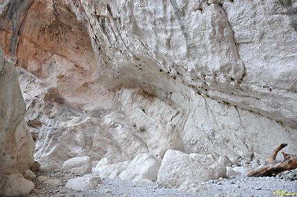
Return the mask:
<svg viewBox="0 0 297 197">
<path fill-rule="evenodd" d="M 53 56 L 81 69 L 95 65 L 88 34 L 63 1 L 10 1 L 0 18 L 0 45 L 6 56 L 41 78 L 59 65 Z M 46 66 L 44 66 L 46 65 Z"/>
</svg>

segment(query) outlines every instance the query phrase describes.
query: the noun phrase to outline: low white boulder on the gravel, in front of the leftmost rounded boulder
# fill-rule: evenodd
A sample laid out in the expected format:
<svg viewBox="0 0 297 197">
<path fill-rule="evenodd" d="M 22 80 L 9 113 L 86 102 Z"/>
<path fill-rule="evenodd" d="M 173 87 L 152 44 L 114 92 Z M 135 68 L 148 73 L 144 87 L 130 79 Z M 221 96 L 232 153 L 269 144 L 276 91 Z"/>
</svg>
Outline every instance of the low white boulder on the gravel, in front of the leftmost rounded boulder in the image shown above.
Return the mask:
<svg viewBox="0 0 297 197">
<path fill-rule="evenodd" d="M 75 189 L 77 191 L 87 191 L 96 189 L 97 183 L 101 183 L 101 178 L 99 176 L 90 176 L 86 174 L 82 177 L 72 178 L 68 180 L 65 187 L 69 189 Z"/>
</svg>

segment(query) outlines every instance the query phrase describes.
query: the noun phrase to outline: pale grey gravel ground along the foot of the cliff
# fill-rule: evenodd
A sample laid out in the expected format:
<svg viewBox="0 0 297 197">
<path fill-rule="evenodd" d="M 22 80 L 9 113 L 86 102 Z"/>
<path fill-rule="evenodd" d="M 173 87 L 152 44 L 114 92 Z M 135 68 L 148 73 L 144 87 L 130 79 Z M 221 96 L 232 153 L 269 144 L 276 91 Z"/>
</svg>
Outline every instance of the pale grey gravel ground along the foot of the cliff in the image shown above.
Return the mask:
<svg viewBox="0 0 297 197">
<path fill-rule="evenodd" d="M 62 181 L 60 186 L 46 185 L 35 180 L 35 189 L 27 196 L 276 196 L 274 191 L 297 192 L 297 180 L 280 177 L 245 177 L 236 176 L 230 179 L 210 180 L 200 185 L 192 185 L 194 189 L 166 189 L 158 185 L 132 183 L 119 178 L 106 178 L 98 184 L 97 189 L 90 191 L 74 191 L 64 187 L 67 180 L 77 175 L 61 172 L 39 172 L 37 176 L 50 176 Z M 26 196 L 26 197 L 27 197 Z M 25 197 L 25 196 L 24 196 Z"/>
</svg>

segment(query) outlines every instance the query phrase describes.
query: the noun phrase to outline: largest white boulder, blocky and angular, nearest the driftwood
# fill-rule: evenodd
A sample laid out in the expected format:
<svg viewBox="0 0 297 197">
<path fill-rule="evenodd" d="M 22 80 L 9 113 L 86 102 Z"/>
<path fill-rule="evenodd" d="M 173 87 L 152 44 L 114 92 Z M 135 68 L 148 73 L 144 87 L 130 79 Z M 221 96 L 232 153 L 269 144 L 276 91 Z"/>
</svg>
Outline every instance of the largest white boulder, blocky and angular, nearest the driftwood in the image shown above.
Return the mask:
<svg viewBox="0 0 297 197">
<path fill-rule="evenodd" d="M 163 187 L 175 188 L 184 183 L 191 185 L 207 182 L 226 176 L 227 170 L 223 165 L 224 163 L 218 163 L 213 156 L 188 155 L 169 149 L 157 174 L 157 183 Z"/>
</svg>

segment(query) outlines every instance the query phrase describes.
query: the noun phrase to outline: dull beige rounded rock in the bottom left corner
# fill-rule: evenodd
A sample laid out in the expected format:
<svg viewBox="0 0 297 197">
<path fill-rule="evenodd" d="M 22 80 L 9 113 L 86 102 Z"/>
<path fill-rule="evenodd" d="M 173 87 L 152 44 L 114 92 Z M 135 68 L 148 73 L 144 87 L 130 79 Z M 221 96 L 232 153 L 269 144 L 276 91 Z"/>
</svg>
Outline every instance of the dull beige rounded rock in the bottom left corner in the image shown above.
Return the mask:
<svg viewBox="0 0 297 197">
<path fill-rule="evenodd" d="M 29 194 L 34 189 L 34 183 L 23 178 L 21 174 L 0 176 L 0 179 L 3 181 L 0 196 L 21 196 Z"/>
</svg>

